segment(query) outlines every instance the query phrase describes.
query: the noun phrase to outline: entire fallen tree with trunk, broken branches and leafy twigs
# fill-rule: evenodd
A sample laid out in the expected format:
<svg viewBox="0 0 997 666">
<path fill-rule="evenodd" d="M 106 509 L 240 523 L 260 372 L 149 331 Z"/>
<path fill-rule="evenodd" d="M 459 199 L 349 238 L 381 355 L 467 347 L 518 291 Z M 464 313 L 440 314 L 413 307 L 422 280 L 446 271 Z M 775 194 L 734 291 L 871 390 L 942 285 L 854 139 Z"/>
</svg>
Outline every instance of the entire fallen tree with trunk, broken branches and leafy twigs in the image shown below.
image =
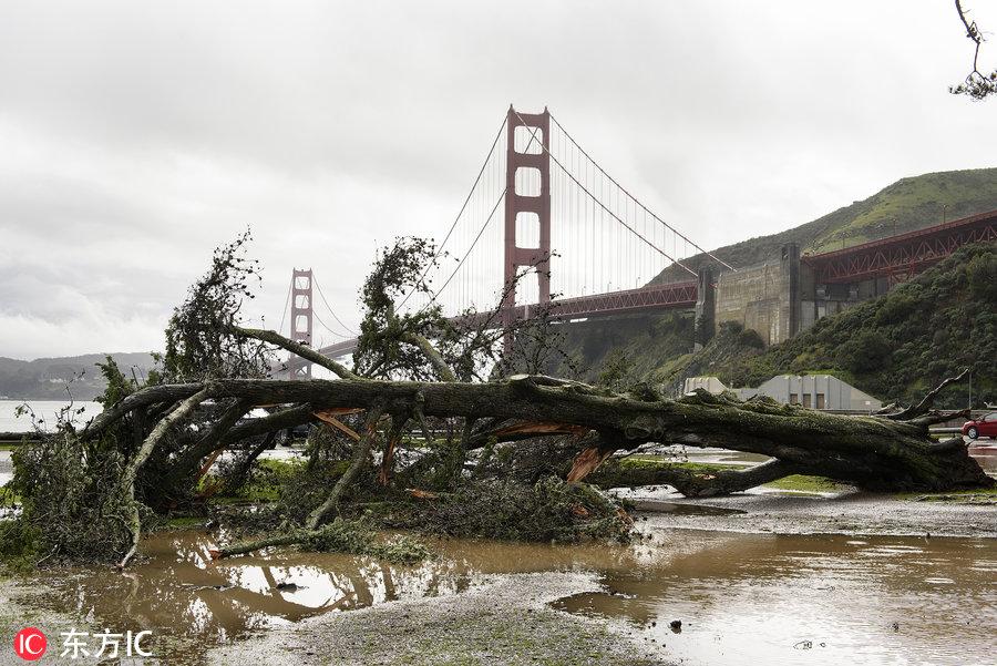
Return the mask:
<svg viewBox="0 0 997 666">
<path fill-rule="evenodd" d="M 349 521 L 366 508 L 401 500 L 439 503 L 421 515 L 443 533 L 571 540 L 627 531 L 626 516 L 613 501 L 598 501 L 584 483 L 589 480 L 606 488 L 667 483 L 688 496 L 738 492 L 789 474 L 891 491 L 994 484 L 962 439 L 928 436 L 931 424 L 959 413 L 932 410 L 938 391 L 958 378 L 916 406 L 846 417 L 770 399 L 742 402 L 729 393 L 674 400 L 648 386 L 614 391 L 547 377 L 544 356 L 556 354 L 551 340 L 557 327 L 542 316 L 502 329 L 494 312 L 469 315 L 462 320 L 472 328 L 460 329 L 439 306 L 395 314 L 407 285 L 414 279 L 425 288 L 423 268 L 435 258 L 425 244 L 403 242 L 364 284 L 368 314 L 347 368 L 275 331 L 241 326 L 238 311 L 251 296 L 246 284 L 253 275 L 237 252 L 245 240 L 218 250 L 212 270 L 177 308 L 162 369 L 145 386 L 109 361 L 102 367 L 104 411 L 82 430 L 68 426 L 18 452 L 14 486 L 24 499 L 23 520 L 58 535 L 43 536 L 43 552 L 113 555 L 124 566 L 144 524 L 214 492 L 199 484 L 222 451 L 240 452 L 224 484 L 234 491 L 251 477 L 275 433 L 301 424 L 323 434 L 309 437 L 309 463 L 287 486 L 284 513 L 261 530 L 274 535 L 218 555 L 291 543 L 342 549 L 349 540 L 332 539 L 333 532 L 352 530 Z M 413 253 L 421 258 L 407 260 Z M 502 336 L 518 334 L 513 350 L 521 357 L 503 357 Z M 339 379 L 273 380 L 275 347 Z M 514 368 L 524 372 L 512 375 Z M 269 410 L 266 417 L 244 419 L 260 407 Z M 773 460 L 717 473 L 604 467 L 615 453 L 648 444 L 719 447 Z M 222 485 L 215 480 L 210 488 Z M 490 500 L 510 494 L 518 500 Z M 474 504 L 475 496 L 484 501 Z M 511 526 L 487 530 L 486 521 L 471 520 L 479 512 L 464 510 L 472 505 L 501 505 L 495 520 L 515 516 Z M 557 522 L 537 529 L 527 513 Z M 448 520 L 462 526 L 442 525 Z"/>
</svg>

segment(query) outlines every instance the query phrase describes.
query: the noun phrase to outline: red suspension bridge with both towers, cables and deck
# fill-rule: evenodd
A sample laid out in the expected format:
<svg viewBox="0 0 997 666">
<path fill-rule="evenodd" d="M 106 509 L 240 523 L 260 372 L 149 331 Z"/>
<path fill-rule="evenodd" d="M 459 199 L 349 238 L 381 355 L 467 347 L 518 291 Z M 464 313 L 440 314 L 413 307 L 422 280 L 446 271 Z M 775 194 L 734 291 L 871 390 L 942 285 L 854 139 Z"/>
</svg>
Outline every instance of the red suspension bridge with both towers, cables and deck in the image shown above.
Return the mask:
<svg viewBox="0 0 997 666">
<path fill-rule="evenodd" d="M 803 263 L 821 283 L 906 279 L 963 243 L 993 240 L 995 223 L 997 212 Z M 564 319 L 688 309 L 697 303 L 700 280 L 709 279 L 685 263 L 689 257 L 702 254 L 716 268 L 736 270 L 630 194 L 549 111 L 521 113 L 512 106 L 436 253 L 435 268 L 424 276 L 433 293 L 412 291 L 400 309 L 436 303 L 459 317 L 497 308 L 496 319 L 505 324 L 539 308 Z M 669 266 L 687 279 L 649 284 Z M 315 308 L 316 294 L 329 321 Z M 336 340 L 320 346 L 322 354 L 338 357 L 356 348 L 357 332 L 336 316 L 311 269 L 294 270 L 288 299 L 294 340 L 312 346 L 318 324 Z M 291 377 L 310 377 L 311 367 L 301 359 L 288 365 Z"/>
</svg>

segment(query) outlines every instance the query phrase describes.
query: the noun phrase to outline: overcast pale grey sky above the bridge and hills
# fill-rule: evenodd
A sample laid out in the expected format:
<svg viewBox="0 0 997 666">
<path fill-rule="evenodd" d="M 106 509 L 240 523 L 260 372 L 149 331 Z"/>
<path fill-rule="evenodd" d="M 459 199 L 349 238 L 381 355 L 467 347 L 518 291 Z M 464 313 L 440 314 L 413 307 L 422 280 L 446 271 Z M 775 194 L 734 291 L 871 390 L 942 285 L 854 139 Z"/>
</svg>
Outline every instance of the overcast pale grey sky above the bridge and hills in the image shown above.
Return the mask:
<svg viewBox="0 0 997 666">
<path fill-rule="evenodd" d="M 0 356 L 161 347 L 247 225 L 254 315 L 311 266 L 356 320 L 374 248 L 445 232 L 511 102 L 710 247 L 994 166 L 997 101 L 946 91 L 970 57 L 949 0 L 4 1 Z"/>
</svg>

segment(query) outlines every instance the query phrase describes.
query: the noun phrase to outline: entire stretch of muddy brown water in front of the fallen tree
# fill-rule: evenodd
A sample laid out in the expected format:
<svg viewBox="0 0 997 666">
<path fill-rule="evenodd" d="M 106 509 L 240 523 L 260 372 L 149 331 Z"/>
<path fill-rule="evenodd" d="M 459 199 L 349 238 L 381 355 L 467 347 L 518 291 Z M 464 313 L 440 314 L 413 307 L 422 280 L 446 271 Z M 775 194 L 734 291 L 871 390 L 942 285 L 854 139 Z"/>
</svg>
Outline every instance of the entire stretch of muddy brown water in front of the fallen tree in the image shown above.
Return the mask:
<svg viewBox="0 0 997 666">
<path fill-rule="evenodd" d="M 204 646 L 326 613 L 460 594 L 494 574 L 576 571 L 603 591 L 556 608 L 664 642 L 676 662 L 995 658 L 997 543 L 986 540 L 665 531 L 630 546 L 444 541 L 419 566 L 291 552 L 210 563 L 213 545 L 206 534 L 154 535 L 143 549 L 151 560 L 125 575 L 81 570 L 60 583 L 62 604 L 97 624 Z M 682 621 L 680 633 L 672 619 Z"/>
</svg>

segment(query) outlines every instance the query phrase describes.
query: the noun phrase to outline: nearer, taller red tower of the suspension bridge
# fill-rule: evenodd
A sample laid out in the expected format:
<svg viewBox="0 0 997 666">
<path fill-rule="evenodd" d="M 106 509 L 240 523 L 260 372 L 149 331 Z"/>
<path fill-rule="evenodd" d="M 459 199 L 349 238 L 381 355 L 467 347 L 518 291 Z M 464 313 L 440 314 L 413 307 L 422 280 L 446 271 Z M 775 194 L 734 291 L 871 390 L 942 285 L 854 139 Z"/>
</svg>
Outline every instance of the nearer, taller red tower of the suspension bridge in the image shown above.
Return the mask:
<svg viewBox="0 0 997 666">
<path fill-rule="evenodd" d="M 530 137 L 523 152 L 516 151 L 516 127 L 526 127 Z M 516 271 L 527 266 L 535 269 L 538 284 L 539 303 L 551 301 L 551 114 L 546 107 L 543 113 L 518 113 L 510 104 L 506 122 L 506 161 L 505 161 L 505 295 L 502 299 L 503 322 L 510 326 L 515 319 L 516 307 Z M 520 170 L 539 172 L 539 193 L 520 194 L 516 192 L 516 174 Z M 520 181 L 526 182 L 527 171 L 521 174 Z M 539 225 L 539 243 L 537 247 L 522 247 L 516 238 L 516 227 L 532 223 Z M 512 336 L 506 335 L 504 345 L 506 352 L 512 349 Z"/>
</svg>

